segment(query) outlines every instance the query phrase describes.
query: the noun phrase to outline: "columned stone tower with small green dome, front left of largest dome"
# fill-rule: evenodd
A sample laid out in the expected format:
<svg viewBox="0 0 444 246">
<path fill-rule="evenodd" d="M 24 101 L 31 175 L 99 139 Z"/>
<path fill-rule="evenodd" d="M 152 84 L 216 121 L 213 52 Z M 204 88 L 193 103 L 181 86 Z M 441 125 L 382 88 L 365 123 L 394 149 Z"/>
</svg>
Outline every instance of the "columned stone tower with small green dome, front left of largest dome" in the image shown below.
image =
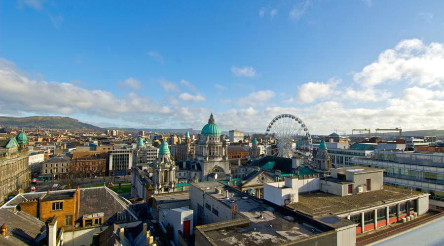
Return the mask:
<svg viewBox="0 0 444 246">
<path fill-rule="evenodd" d="M 152 168 L 154 193 L 173 192 L 176 190 L 176 162 L 171 158 L 168 143 L 160 145 L 159 157 Z"/>
</svg>

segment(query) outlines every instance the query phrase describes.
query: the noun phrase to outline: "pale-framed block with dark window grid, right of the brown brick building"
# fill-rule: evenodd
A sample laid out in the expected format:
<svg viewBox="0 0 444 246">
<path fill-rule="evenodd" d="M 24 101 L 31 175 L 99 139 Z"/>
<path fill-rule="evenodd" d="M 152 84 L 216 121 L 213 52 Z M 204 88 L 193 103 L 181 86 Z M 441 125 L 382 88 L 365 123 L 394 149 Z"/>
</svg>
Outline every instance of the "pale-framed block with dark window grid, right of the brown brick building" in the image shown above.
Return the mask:
<svg viewBox="0 0 444 246">
<path fill-rule="evenodd" d="M 133 149 L 116 149 L 109 152 L 108 170 L 110 175 L 127 175 L 133 166 Z"/>
</svg>

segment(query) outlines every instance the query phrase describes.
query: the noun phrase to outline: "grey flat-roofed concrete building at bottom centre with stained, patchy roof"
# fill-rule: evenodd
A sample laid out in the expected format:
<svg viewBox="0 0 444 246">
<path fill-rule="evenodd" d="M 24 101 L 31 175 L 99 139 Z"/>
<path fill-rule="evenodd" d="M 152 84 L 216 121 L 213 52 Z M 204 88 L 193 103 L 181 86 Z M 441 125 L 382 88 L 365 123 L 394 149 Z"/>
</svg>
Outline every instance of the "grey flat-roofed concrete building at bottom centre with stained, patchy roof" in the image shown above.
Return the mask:
<svg viewBox="0 0 444 246">
<path fill-rule="evenodd" d="M 216 181 L 191 184 L 189 197 L 197 224 L 195 245 L 352 246 L 356 242 L 356 225 L 351 221 L 278 210 Z"/>
</svg>

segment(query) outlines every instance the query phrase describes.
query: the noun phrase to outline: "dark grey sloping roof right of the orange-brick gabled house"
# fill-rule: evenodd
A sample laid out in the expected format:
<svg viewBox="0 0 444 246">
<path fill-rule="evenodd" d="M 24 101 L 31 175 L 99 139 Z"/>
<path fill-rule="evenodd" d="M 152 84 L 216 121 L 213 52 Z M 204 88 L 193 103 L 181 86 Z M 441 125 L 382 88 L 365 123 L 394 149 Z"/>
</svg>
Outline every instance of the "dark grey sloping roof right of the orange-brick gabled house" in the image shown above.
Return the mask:
<svg viewBox="0 0 444 246">
<path fill-rule="evenodd" d="M 94 213 L 104 213 L 104 223 L 112 224 L 117 222 L 117 213 L 129 210 L 129 214 L 134 212 L 128 207 L 129 201 L 119 196 L 105 186 L 80 189 L 80 208 L 78 218 L 83 215 Z M 132 216 L 129 215 L 129 218 Z M 132 220 L 137 220 L 132 218 Z"/>
</svg>

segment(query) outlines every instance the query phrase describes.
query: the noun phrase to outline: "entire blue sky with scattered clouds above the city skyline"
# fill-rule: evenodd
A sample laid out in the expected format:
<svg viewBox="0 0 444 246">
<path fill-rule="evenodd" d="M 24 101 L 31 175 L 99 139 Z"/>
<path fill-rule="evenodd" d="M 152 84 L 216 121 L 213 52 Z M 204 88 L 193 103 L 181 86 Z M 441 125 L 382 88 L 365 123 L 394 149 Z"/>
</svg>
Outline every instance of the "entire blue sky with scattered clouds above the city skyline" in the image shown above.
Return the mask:
<svg viewBox="0 0 444 246">
<path fill-rule="evenodd" d="M 443 1 L 0 2 L 0 115 L 444 128 Z M 440 117 L 441 114 L 441 117 Z"/>
</svg>

